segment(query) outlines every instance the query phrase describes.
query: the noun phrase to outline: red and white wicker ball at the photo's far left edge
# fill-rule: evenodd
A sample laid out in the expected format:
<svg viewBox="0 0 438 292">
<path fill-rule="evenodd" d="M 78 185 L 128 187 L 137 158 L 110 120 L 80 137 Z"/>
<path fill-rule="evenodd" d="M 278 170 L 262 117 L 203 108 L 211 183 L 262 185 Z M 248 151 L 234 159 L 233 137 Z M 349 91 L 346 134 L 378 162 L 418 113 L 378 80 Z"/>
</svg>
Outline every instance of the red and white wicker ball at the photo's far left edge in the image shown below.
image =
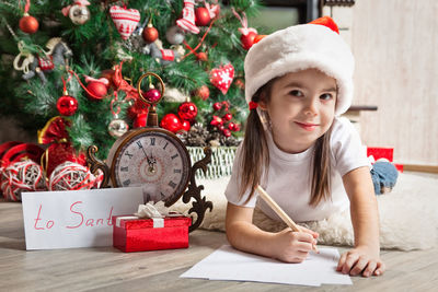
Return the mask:
<svg viewBox="0 0 438 292">
<path fill-rule="evenodd" d="M 1 171 L 0 189 L 11 201 L 21 201 L 22 191 L 46 190 L 43 168 L 32 160 L 12 163 Z"/>
</svg>

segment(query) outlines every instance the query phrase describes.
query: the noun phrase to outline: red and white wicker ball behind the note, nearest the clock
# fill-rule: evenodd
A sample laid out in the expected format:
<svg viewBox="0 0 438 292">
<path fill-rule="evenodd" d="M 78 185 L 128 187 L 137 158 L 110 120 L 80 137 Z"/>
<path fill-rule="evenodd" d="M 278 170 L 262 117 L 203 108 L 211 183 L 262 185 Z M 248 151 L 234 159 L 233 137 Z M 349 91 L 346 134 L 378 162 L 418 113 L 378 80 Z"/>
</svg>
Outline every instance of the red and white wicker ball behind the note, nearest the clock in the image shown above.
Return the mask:
<svg viewBox="0 0 438 292">
<path fill-rule="evenodd" d="M 93 175 L 90 168 L 74 162 L 66 161 L 56 166 L 48 180 L 49 190 L 81 190 L 99 188 L 103 173 Z"/>
</svg>

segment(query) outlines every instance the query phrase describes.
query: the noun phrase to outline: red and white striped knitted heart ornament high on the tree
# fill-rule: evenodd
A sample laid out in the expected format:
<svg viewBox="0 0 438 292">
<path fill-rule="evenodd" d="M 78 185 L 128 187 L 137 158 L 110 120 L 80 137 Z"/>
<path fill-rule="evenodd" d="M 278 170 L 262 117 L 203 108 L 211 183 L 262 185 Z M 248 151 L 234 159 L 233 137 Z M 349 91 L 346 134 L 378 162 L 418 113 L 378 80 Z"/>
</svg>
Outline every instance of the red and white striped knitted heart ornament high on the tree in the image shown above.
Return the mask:
<svg viewBox="0 0 438 292">
<path fill-rule="evenodd" d="M 113 5 L 110 8 L 110 15 L 123 39 L 127 39 L 134 33 L 140 21 L 140 12 L 137 9 Z"/>
</svg>

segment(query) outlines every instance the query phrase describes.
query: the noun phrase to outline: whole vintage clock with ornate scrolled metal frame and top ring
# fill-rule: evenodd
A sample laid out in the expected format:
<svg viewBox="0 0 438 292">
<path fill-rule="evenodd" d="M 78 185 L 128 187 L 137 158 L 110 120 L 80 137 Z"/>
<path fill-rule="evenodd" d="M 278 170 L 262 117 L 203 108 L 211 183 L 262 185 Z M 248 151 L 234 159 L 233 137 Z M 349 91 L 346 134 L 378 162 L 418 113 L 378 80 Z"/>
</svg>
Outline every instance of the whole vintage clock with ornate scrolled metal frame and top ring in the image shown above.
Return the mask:
<svg viewBox="0 0 438 292">
<path fill-rule="evenodd" d="M 141 81 L 149 77 L 160 82 L 161 94 L 143 95 Z M 212 203 L 201 198 L 203 186 L 196 186 L 195 172 L 197 168 L 207 170 L 211 161 L 211 150 L 204 150 L 206 156 L 192 166 L 191 156 L 184 143 L 171 131 L 158 125 L 157 104 L 164 95 L 164 82 L 155 73 L 148 72 L 138 81 L 138 93 L 142 102 L 149 104 L 147 126 L 132 129 L 118 138 L 108 152 L 106 164 L 95 157 L 96 147 L 88 150 L 88 161 L 91 171 L 96 168 L 104 172 L 103 186 L 111 179 L 112 187 L 141 186 L 145 202 L 164 201 L 166 207 L 175 203 L 183 195 L 183 201 L 193 208 L 189 212 L 197 213 L 197 220 L 191 226 L 195 230 L 201 223 L 207 209 Z M 188 190 L 186 190 L 188 187 Z"/>
</svg>

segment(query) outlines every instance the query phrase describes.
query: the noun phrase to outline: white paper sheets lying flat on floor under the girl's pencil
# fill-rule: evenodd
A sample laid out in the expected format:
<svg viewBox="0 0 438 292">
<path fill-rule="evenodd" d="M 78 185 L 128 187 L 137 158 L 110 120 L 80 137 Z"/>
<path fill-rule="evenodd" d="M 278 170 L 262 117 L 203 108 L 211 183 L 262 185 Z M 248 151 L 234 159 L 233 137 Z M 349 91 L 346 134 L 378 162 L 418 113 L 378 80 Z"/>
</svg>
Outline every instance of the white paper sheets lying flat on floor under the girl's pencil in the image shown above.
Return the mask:
<svg viewBox="0 0 438 292">
<path fill-rule="evenodd" d="M 301 264 L 286 264 L 224 245 L 180 277 L 313 287 L 351 284 L 349 276 L 336 271 L 338 258 L 337 249 L 320 248 L 320 254 L 311 253 Z"/>
</svg>

